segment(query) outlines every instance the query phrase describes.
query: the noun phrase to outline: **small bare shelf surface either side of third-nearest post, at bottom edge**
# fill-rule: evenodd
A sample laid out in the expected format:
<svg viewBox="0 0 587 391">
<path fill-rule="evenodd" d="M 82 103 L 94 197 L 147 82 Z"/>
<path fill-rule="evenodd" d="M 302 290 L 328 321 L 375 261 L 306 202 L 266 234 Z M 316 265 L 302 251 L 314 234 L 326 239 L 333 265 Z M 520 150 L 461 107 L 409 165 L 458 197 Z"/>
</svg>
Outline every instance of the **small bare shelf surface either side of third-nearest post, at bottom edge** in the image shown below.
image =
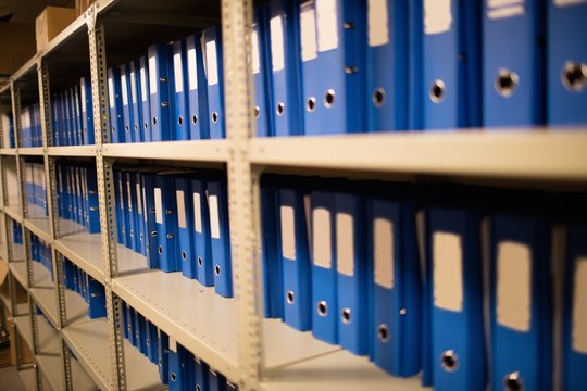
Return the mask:
<svg viewBox="0 0 587 391">
<path fill-rule="evenodd" d="M 38 354 L 37 364 L 47 377 L 49 383 L 57 391 L 65 390 L 63 384 L 63 373 L 61 367 L 61 356 L 59 354 Z M 96 391 L 98 387 L 86 374 L 77 360 L 72 357 L 72 383 L 77 391 Z"/>
</svg>

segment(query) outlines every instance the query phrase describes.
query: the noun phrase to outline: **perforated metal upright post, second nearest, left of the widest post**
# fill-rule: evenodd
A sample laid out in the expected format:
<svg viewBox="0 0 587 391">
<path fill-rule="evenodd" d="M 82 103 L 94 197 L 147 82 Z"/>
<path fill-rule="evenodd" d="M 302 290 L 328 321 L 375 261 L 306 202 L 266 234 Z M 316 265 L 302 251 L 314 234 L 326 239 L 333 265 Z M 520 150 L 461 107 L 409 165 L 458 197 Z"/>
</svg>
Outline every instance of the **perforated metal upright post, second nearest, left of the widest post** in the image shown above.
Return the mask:
<svg viewBox="0 0 587 391">
<path fill-rule="evenodd" d="M 122 300 L 112 291 L 112 279 L 118 275 L 116 242 L 116 205 L 114 200 L 113 159 L 104 157 L 103 144 L 110 142 L 110 114 L 108 97 L 105 30 L 98 17 L 100 2 L 87 11 L 89 53 L 91 70 L 91 98 L 93 128 L 96 133 L 96 173 L 100 209 L 100 235 L 104 263 L 104 290 L 107 297 L 108 335 L 112 365 L 113 389 L 127 389 L 124 362 L 124 330 L 122 325 Z"/>
</svg>

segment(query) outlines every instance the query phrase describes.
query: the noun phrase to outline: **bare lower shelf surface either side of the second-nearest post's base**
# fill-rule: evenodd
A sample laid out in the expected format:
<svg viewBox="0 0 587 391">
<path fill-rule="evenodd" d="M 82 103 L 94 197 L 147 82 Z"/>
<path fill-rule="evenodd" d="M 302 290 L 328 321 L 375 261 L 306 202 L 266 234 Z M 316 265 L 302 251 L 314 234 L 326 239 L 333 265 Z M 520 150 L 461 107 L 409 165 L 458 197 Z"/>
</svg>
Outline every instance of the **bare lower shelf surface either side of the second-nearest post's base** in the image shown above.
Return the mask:
<svg viewBox="0 0 587 391">
<path fill-rule="evenodd" d="M 83 320 L 63 329 L 63 337 L 79 363 L 100 389 L 112 390 L 108 324 L 105 318 Z M 163 388 L 159 369 L 128 341 L 124 342 L 126 379 L 129 390 Z"/>
</svg>

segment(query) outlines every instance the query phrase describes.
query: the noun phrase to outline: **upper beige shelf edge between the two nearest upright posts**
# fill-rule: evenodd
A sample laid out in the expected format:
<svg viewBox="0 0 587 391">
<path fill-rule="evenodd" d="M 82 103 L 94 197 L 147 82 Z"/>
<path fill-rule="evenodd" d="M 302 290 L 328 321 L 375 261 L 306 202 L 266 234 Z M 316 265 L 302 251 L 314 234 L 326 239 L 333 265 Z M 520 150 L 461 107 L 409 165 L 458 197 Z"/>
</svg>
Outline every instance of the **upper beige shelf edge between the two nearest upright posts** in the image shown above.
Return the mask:
<svg viewBox="0 0 587 391">
<path fill-rule="evenodd" d="M 186 160 L 196 162 L 228 161 L 227 140 L 191 140 L 112 143 L 103 146 L 103 154 L 109 157 Z"/>
</svg>

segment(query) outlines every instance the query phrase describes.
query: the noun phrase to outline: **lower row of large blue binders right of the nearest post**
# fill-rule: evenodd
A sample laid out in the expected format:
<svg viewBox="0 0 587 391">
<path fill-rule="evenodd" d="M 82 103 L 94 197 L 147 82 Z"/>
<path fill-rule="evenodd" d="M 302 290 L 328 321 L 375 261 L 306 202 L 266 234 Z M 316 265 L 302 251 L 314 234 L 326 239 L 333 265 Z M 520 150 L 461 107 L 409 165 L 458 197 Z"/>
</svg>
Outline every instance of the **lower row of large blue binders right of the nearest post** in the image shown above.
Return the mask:
<svg viewBox="0 0 587 391">
<path fill-rule="evenodd" d="M 587 219 L 577 222 L 580 202 L 571 214 L 557 211 L 561 199 L 265 176 L 264 315 L 366 355 L 394 376 L 422 371 L 424 386 L 551 389 L 551 287 L 560 269 L 563 381 L 579 389 Z M 564 272 L 551 252 L 554 224 L 567 230 Z"/>
</svg>

